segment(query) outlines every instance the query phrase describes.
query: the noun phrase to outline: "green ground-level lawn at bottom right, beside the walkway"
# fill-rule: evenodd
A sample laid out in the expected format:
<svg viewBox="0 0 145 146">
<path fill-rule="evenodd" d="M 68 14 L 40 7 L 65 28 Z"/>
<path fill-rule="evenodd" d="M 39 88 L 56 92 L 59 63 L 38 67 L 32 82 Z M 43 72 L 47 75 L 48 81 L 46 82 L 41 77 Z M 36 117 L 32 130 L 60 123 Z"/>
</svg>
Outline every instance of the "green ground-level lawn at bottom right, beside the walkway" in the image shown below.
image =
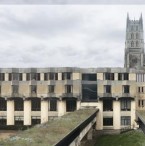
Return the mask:
<svg viewBox="0 0 145 146">
<path fill-rule="evenodd" d="M 119 135 L 104 135 L 97 139 L 94 146 L 145 146 L 145 135 L 140 130 Z"/>
</svg>

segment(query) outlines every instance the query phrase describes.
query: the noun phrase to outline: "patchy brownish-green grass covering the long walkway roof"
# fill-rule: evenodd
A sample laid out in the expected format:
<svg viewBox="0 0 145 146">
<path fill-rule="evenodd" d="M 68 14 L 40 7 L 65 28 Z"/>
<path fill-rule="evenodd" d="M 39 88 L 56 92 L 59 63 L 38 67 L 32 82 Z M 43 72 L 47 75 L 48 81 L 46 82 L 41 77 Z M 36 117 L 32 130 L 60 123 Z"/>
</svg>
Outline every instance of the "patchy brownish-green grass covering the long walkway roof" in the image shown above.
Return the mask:
<svg viewBox="0 0 145 146">
<path fill-rule="evenodd" d="M 52 146 L 76 126 L 95 113 L 96 109 L 82 109 L 57 120 L 19 132 L 16 136 L 0 141 L 0 146 Z"/>
</svg>

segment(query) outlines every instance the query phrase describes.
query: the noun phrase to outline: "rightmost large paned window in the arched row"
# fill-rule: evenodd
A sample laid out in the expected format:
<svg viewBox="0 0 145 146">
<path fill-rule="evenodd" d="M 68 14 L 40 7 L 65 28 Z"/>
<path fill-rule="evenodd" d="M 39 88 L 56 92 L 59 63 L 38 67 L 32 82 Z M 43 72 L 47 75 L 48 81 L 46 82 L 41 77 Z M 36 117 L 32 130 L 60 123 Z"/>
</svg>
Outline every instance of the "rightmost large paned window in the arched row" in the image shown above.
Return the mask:
<svg viewBox="0 0 145 146">
<path fill-rule="evenodd" d="M 130 109 L 131 109 L 131 100 L 121 99 L 121 111 L 130 111 Z"/>
</svg>

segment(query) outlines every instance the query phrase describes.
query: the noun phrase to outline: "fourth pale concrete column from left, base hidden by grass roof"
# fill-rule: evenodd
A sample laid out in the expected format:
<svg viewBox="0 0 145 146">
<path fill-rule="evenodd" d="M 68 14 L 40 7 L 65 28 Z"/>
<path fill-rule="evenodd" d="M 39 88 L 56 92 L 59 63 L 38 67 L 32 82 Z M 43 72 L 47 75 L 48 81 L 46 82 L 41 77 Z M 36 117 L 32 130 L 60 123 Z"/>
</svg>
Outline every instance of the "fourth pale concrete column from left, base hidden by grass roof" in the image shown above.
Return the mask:
<svg viewBox="0 0 145 146">
<path fill-rule="evenodd" d="M 66 113 L 66 101 L 58 100 L 58 116 L 63 116 Z"/>
</svg>

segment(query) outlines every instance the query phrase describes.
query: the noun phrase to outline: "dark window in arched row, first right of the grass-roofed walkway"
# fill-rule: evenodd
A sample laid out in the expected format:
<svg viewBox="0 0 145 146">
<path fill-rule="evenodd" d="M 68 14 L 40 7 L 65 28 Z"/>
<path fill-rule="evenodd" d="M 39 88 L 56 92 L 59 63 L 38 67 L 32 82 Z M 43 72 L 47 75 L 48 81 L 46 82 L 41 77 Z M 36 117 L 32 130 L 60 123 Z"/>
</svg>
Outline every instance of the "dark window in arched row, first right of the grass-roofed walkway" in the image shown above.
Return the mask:
<svg viewBox="0 0 145 146">
<path fill-rule="evenodd" d="M 104 99 L 103 100 L 103 111 L 113 111 L 112 99 Z"/>
</svg>

